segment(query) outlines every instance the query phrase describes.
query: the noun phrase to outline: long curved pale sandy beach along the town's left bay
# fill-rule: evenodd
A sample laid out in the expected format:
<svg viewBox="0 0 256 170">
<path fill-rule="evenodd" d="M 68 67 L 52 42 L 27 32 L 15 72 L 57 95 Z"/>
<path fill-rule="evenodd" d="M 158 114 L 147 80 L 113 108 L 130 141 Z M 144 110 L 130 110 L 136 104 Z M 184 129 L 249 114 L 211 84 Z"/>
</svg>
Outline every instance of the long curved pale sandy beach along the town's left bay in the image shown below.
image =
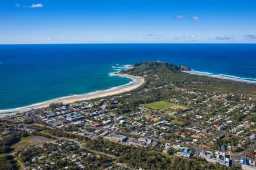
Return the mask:
<svg viewBox="0 0 256 170">
<path fill-rule="evenodd" d="M 134 90 L 135 88 L 138 88 L 139 86 L 141 86 L 144 83 L 144 78 L 141 76 L 133 76 L 133 75 L 121 74 L 121 73 L 113 73 L 113 75 L 125 76 L 127 78 L 133 79 L 134 81 L 132 83 L 125 84 L 125 85 L 119 86 L 119 87 L 113 87 L 108 90 L 91 92 L 89 94 L 84 94 L 84 95 L 73 95 L 73 96 L 67 96 L 67 97 L 60 97 L 58 99 L 48 100 L 48 101 L 45 101 L 42 103 L 37 103 L 37 104 L 32 104 L 27 107 L 1 110 L 0 117 L 10 116 L 10 115 L 16 114 L 18 112 L 26 112 L 32 108 L 38 109 L 38 108 L 48 107 L 48 105 L 50 103 L 56 103 L 56 102 L 73 103 L 75 101 L 90 100 L 90 99 L 96 99 L 99 97 L 117 95 L 117 94 L 121 94 L 123 92 Z"/>
</svg>

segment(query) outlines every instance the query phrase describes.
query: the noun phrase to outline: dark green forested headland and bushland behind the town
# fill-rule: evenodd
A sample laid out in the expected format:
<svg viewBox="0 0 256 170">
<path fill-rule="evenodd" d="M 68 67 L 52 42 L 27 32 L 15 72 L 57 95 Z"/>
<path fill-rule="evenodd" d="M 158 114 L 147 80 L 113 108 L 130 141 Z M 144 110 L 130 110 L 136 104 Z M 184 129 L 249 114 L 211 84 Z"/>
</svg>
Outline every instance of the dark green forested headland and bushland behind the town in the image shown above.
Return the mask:
<svg viewBox="0 0 256 170">
<path fill-rule="evenodd" d="M 189 69 L 168 62 L 143 62 L 135 64 L 132 69 L 121 71 L 121 73 L 144 76 L 146 80 L 144 88 L 174 84 L 177 87 L 191 90 L 256 96 L 256 84 L 254 83 L 188 74 L 182 72 L 183 70 Z"/>
</svg>

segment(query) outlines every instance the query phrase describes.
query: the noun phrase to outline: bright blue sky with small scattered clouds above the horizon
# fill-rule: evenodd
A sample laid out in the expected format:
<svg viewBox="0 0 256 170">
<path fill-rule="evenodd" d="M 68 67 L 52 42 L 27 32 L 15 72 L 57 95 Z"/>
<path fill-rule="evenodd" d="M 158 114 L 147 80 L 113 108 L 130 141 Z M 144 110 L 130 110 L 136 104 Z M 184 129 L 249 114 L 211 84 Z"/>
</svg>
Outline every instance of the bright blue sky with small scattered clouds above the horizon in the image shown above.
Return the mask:
<svg viewBox="0 0 256 170">
<path fill-rule="evenodd" d="M 0 44 L 255 43 L 256 0 L 1 0 Z"/>
</svg>

